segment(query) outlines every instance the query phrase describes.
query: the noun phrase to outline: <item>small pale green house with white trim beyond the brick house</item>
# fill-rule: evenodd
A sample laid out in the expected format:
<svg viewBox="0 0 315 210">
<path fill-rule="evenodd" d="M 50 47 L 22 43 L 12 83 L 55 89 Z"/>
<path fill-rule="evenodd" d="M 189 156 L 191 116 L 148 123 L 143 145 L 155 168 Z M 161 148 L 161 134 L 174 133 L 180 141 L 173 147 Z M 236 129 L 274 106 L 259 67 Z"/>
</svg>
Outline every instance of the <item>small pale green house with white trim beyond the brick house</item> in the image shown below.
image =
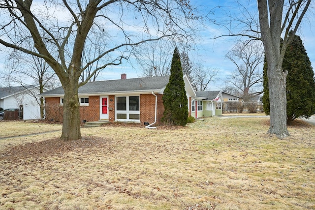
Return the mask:
<svg viewBox="0 0 315 210">
<path fill-rule="evenodd" d="M 191 106 L 194 118 L 222 115 L 222 91 L 196 91 Z"/>
</svg>

